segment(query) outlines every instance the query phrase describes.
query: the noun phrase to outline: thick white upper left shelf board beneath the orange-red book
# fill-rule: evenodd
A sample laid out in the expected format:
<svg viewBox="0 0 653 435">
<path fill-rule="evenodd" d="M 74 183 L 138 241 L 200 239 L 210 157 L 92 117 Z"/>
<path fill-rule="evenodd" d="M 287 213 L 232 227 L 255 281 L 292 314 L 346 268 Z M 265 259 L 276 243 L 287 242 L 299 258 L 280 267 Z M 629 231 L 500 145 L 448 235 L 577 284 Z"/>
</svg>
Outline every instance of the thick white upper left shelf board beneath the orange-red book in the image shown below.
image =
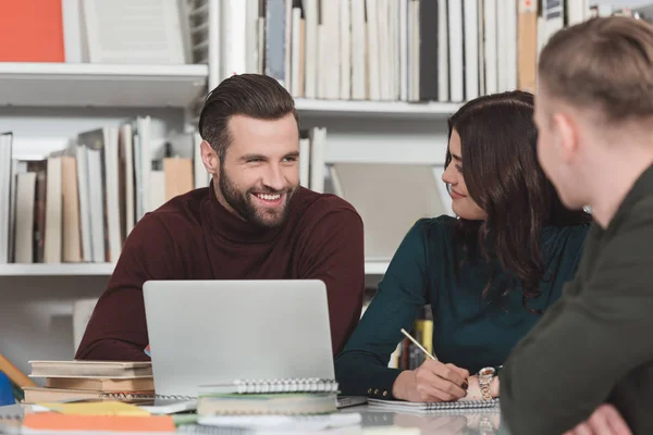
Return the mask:
<svg viewBox="0 0 653 435">
<path fill-rule="evenodd" d="M 0 105 L 185 108 L 206 91 L 208 65 L 0 62 Z"/>
</svg>

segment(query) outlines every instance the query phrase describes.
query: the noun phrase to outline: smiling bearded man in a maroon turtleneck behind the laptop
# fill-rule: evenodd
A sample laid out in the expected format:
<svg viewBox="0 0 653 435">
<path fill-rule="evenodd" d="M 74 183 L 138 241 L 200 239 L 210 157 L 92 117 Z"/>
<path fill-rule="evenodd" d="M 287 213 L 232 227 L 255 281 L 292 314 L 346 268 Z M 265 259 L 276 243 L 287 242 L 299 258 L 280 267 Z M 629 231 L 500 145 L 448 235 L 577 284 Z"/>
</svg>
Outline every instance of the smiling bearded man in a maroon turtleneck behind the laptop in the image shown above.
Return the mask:
<svg viewBox="0 0 653 435">
<path fill-rule="evenodd" d="M 149 279 L 321 279 L 337 353 L 362 306 L 362 221 L 343 199 L 299 187 L 292 97 L 264 75 L 230 77 L 207 97 L 199 132 L 210 186 L 138 222 L 76 358 L 149 359 Z"/>
</svg>

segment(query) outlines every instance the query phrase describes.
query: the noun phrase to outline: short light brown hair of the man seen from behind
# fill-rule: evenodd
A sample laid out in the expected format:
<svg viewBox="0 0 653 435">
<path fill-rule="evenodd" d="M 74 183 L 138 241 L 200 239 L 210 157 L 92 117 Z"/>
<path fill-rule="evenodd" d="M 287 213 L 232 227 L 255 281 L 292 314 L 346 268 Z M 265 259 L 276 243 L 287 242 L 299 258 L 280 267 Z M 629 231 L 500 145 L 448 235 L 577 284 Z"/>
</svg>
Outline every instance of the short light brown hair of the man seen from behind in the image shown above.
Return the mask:
<svg viewBox="0 0 653 435">
<path fill-rule="evenodd" d="M 608 122 L 653 115 L 653 26 L 626 16 L 592 18 L 556 33 L 540 54 L 547 95 Z"/>
</svg>

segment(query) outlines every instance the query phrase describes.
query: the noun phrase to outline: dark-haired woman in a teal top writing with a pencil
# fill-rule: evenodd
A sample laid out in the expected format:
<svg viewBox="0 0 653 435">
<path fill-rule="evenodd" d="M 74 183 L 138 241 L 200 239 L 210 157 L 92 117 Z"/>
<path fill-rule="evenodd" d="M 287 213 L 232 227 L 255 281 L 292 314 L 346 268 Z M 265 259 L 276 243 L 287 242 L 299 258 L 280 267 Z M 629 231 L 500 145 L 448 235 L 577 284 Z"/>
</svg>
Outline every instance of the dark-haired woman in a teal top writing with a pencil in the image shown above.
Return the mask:
<svg viewBox="0 0 653 435">
<path fill-rule="evenodd" d="M 591 216 L 567 210 L 538 163 L 533 97 L 477 98 L 448 122 L 443 175 L 457 219 L 419 220 L 336 357 L 345 395 L 448 401 L 498 395 L 512 348 L 574 277 Z M 433 353 L 417 370 L 387 366 L 430 304 Z M 479 382 L 478 375 L 482 371 Z M 533 374 L 537 375 L 537 374 Z"/>
</svg>

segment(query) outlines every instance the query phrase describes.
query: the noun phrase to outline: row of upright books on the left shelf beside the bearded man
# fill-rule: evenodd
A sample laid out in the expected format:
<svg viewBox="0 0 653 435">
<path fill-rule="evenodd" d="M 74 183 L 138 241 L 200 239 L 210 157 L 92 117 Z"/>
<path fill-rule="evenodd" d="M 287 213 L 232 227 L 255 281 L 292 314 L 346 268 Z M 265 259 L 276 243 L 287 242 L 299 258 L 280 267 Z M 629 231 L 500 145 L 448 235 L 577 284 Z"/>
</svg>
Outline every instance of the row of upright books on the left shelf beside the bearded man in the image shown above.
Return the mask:
<svg viewBox="0 0 653 435">
<path fill-rule="evenodd" d="M 161 146 L 149 116 L 81 132 L 40 160 L 14 158 L 12 137 L 0 136 L 0 263 L 115 262 L 145 213 L 208 185 L 199 136 Z"/>
</svg>

